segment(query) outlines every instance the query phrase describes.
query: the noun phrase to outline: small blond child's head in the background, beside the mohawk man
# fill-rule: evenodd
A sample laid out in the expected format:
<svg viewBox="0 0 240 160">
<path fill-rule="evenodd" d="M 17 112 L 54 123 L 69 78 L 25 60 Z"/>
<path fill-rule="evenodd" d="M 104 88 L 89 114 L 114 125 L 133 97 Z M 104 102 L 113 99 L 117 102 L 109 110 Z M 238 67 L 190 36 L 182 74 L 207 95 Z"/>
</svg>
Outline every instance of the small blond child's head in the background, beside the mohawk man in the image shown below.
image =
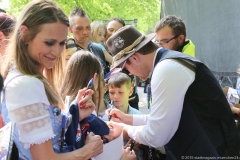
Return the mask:
<svg viewBox="0 0 240 160">
<path fill-rule="evenodd" d="M 106 41 L 107 29 L 106 26 L 98 21 L 91 23 L 91 41 L 95 43 L 101 43 L 104 45 Z"/>
</svg>

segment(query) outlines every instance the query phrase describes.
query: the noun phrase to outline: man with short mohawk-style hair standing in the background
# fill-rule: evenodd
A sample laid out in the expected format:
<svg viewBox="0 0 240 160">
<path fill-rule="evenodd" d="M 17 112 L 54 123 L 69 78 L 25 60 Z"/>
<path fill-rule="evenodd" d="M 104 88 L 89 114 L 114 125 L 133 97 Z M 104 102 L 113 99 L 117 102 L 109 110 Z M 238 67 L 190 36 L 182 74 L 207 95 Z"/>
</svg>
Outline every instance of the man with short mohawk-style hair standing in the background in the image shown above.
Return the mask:
<svg viewBox="0 0 240 160">
<path fill-rule="evenodd" d="M 69 31 L 73 35 L 77 50 L 87 50 L 96 55 L 101 62 L 103 73 L 108 72 L 106 60 L 101 48 L 90 41 L 91 26 L 88 15 L 82 8 L 75 7 L 69 16 Z"/>
</svg>

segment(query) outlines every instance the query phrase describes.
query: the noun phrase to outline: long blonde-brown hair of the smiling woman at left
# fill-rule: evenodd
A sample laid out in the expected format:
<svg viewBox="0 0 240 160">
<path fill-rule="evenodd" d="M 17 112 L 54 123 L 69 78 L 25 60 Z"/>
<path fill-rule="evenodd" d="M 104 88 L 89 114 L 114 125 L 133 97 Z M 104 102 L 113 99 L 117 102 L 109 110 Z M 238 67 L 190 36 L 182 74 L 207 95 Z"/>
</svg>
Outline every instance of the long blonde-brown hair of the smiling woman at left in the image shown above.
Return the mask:
<svg viewBox="0 0 240 160">
<path fill-rule="evenodd" d="M 54 86 L 54 73 L 52 69 L 44 69 L 44 75 L 39 71 L 38 65 L 33 61 L 28 52 L 27 42 L 34 39 L 41 31 L 42 25 L 46 23 L 60 22 L 69 26 L 68 17 L 62 9 L 51 0 L 34 0 L 29 2 L 19 19 L 16 22 L 14 32 L 11 36 L 7 49 L 7 57 L 1 69 L 1 73 L 6 78 L 12 65 L 24 75 L 38 78 L 44 84 L 48 100 L 53 105 L 61 106 L 61 97 Z M 28 30 L 22 35 L 20 28 L 26 26 Z M 60 104 L 59 104 L 60 103 Z M 62 106 L 61 106 L 62 107 Z"/>
</svg>

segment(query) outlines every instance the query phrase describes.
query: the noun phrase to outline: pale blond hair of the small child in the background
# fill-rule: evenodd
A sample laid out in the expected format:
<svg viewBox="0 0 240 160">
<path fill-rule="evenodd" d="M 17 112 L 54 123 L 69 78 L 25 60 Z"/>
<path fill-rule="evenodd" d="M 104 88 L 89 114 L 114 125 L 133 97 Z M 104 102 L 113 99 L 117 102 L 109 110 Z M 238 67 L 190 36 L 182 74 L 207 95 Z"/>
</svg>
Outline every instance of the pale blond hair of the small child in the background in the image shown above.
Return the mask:
<svg viewBox="0 0 240 160">
<path fill-rule="evenodd" d="M 101 23 L 99 21 L 93 21 L 91 23 L 91 36 L 90 36 L 90 40 L 92 42 L 97 42 L 97 34 L 98 34 L 99 29 L 101 29 L 101 28 L 103 28 L 105 30 L 105 37 L 106 37 L 106 35 L 107 35 L 107 28 L 106 28 L 106 26 L 103 23 Z M 99 43 L 99 42 L 97 42 L 97 43 Z"/>
</svg>

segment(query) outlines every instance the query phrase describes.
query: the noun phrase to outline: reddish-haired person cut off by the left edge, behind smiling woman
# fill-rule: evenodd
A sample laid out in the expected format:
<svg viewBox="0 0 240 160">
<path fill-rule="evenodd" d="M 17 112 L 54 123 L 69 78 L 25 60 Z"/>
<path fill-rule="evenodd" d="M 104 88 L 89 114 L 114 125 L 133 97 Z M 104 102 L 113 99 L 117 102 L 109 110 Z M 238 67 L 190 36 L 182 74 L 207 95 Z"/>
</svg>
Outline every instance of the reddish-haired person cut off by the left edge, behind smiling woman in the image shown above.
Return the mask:
<svg viewBox="0 0 240 160">
<path fill-rule="evenodd" d="M 7 13 L 0 12 L 0 67 L 3 63 L 5 50 L 7 48 L 10 35 L 12 33 L 14 20 Z"/>
</svg>

